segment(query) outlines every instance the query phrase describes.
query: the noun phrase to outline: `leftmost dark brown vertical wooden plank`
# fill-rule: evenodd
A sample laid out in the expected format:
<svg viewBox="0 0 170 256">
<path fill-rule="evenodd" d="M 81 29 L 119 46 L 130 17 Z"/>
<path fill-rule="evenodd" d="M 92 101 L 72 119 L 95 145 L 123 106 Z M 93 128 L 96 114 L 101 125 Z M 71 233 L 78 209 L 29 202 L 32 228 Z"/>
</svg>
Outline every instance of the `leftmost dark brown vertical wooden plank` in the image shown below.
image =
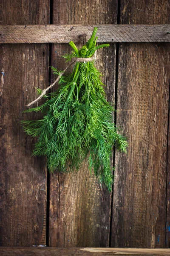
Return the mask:
<svg viewBox="0 0 170 256">
<path fill-rule="evenodd" d="M 49 20 L 48 0 L 3 0 L 1 9 L 1 25 Z M 31 157 L 36 140 L 19 122 L 40 117 L 23 111 L 35 99 L 35 87 L 48 84 L 48 45 L 1 45 L 0 56 L 0 245 L 45 244 L 45 159 Z"/>
</svg>

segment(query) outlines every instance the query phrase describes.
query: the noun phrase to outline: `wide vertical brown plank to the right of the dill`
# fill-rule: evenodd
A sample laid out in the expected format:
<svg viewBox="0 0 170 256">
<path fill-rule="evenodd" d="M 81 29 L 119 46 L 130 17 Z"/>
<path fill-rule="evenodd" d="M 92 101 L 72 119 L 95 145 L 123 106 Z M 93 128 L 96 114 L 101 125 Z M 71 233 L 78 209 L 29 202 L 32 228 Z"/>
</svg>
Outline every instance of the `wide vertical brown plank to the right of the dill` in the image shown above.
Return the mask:
<svg viewBox="0 0 170 256">
<path fill-rule="evenodd" d="M 167 0 L 122 0 L 120 21 L 169 23 L 169 10 Z M 127 155 L 116 152 L 113 247 L 169 246 L 165 227 L 169 66 L 168 44 L 120 44 L 117 126 L 127 135 L 129 148 Z"/>
</svg>

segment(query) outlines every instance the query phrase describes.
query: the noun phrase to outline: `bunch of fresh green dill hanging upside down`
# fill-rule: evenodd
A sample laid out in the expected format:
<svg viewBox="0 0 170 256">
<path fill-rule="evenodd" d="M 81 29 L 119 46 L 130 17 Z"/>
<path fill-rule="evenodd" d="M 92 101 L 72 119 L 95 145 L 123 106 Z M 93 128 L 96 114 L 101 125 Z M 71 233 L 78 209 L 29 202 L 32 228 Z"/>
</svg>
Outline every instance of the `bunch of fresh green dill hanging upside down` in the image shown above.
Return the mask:
<svg viewBox="0 0 170 256">
<path fill-rule="evenodd" d="M 96 31 L 94 28 L 81 49 L 71 41 L 73 52 L 63 56 L 66 61 L 74 57 L 91 58 L 97 49 L 108 47 L 109 44 L 96 46 Z M 51 68 L 58 76 L 62 73 Z M 43 119 L 22 121 L 22 124 L 26 134 L 38 137 L 33 155 L 45 155 L 50 172 L 78 170 L 88 158 L 90 172 L 93 169 L 99 182 L 111 191 L 113 146 L 126 152 L 127 141 L 113 123 L 114 108 L 106 101 L 103 86 L 94 61 L 77 61 L 70 76 L 60 77 L 58 89 L 50 97 L 43 96 L 46 101 L 42 105 L 25 111 L 41 111 Z M 37 89 L 37 93 L 42 91 Z"/>
</svg>

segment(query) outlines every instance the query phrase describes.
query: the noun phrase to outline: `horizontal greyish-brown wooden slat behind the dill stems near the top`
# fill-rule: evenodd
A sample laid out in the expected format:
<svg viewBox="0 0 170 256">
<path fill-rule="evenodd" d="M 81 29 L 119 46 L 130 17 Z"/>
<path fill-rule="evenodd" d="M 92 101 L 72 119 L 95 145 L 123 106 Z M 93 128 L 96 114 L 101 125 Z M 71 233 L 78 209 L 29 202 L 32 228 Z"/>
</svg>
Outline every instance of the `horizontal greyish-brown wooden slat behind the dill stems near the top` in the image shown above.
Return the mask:
<svg viewBox="0 0 170 256">
<path fill-rule="evenodd" d="M 68 43 L 90 38 L 95 25 L 0 26 L 0 44 Z M 170 42 L 170 24 L 96 25 L 98 42 Z"/>
</svg>

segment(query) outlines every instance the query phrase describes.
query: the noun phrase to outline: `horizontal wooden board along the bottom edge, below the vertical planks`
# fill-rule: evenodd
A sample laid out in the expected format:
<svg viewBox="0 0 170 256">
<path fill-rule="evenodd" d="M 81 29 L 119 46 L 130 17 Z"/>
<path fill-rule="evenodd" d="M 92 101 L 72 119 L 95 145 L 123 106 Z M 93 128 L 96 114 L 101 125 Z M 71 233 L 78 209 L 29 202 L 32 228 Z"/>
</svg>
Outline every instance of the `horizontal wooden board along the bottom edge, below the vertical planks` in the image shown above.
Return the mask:
<svg viewBox="0 0 170 256">
<path fill-rule="evenodd" d="M 170 255 L 170 249 L 141 248 L 55 248 L 55 247 L 0 247 L 1 256 L 117 256 L 123 255 Z"/>
</svg>

